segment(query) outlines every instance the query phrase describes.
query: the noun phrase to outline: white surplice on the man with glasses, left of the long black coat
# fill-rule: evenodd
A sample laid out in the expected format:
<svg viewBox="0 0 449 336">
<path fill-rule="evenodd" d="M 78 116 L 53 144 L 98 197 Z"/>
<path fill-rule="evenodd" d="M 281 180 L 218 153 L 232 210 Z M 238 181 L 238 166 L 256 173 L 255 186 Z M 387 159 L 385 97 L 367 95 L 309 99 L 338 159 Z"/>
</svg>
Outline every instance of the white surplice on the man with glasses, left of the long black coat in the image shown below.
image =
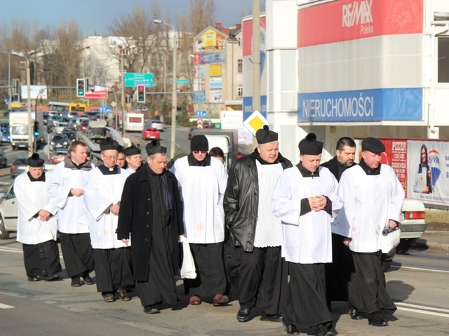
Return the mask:
<svg viewBox="0 0 449 336">
<path fill-rule="evenodd" d="M 121 199 L 123 185 L 129 173 L 120 169 L 119 174 L 104 175 L 97 167 L 91 170 L 84 184 L 84 201 L 94 221 L 89 224 L 93 248 L 124 248 L 117 239 L 116 229 L 119 216 L 113 215 L 109 207 Z M 128 243 L 130 246 L 130 243 Z"/>
</svg>

